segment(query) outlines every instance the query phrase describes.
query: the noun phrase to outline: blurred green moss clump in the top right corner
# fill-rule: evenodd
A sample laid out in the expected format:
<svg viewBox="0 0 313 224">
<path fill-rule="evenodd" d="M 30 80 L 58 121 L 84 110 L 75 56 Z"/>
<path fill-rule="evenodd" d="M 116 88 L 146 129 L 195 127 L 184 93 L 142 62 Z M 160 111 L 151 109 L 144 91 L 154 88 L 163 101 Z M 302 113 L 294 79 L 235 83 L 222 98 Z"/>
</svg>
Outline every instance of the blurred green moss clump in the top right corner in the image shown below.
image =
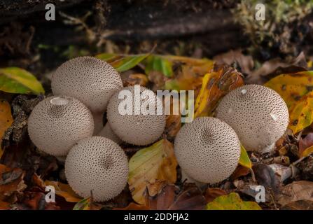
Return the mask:
<svg viewBox="0 0 313 224">
<path fill-rule="evenodd" d="M 265 5 L 265 21 L 255 19 L 257 3 Z M 309 22 L 305 18 L 312 8 L 312 0 L 242 0 L 232 13 L 249 36 L 249 51 L 268 59 L 298 55 L 299 46 L 309 33 Z"/>
</svg>

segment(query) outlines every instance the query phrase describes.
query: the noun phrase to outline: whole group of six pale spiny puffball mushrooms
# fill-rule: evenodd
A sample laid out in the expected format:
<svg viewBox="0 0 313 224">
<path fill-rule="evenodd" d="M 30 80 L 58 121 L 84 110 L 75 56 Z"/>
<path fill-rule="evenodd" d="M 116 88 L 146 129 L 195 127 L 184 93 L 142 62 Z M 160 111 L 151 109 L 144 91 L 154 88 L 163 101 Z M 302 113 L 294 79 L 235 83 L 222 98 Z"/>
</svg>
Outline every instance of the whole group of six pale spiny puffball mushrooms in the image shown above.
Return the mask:
<svg viewBox="0 0 313 224">
<path fill-rule="evenodd" d="M 165 130 L 166 116 L 121 115 L 118 93 L 134 94 L 134 87 L 123 87 L 120 74 L 95 57 L 62 64 L 53 73 L 51 87 L 54 96 L 39 102 L 29 116 L 30 139 L 39 150 L 65 158 L 65 176 L 78 195 L 92 193 L 97 202 L 116 197 L 128 178 L 127 155 L 120 144 L 153 144 Z M 160 101 L 151 90 L 140 91 Z M 103 125 L 105 112 L 108 122 Z M 174 153 L 189 180 L 218 183 L 235 171 L 240 143 L 248 151 L 269 152 L 287 125 L 288 109 L 279 94 L 261 85 L 244 85 L 221 100 L 216 118 L 184 124 Z"/>
</svg>

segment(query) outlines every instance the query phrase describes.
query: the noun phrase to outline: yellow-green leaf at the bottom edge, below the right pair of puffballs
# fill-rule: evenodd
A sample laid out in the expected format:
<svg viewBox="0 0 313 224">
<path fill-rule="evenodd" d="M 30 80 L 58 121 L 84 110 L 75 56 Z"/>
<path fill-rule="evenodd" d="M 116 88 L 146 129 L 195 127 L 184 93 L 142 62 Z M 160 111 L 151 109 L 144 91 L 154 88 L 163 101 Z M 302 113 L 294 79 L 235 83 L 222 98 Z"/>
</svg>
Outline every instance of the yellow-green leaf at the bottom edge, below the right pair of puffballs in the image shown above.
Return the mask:
<svg viewBox="0 0 313 224">
<path fill-rule="evenodd" d="M 209 202 L 207 210 L 262 210 L 256 202 L 244 202 L 237 193 L 216 197 Z"/>
</svg>

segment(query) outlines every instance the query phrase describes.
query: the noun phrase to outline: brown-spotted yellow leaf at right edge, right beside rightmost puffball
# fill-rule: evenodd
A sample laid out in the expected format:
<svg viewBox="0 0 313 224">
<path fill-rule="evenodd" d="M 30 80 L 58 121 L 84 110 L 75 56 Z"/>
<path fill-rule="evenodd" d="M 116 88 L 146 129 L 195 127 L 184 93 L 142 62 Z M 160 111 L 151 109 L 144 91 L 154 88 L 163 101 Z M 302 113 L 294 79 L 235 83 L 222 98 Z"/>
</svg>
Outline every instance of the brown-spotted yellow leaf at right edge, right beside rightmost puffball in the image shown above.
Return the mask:
<svg viewBox="0 0 313 224">
<path fill-rule="evenodd" d="M 297 104 L 289 110 L 290 122 L 288 128 L 293 134 L 300 132 L 313 122 L 313 92 L 303 96 Z"/>
</svg>

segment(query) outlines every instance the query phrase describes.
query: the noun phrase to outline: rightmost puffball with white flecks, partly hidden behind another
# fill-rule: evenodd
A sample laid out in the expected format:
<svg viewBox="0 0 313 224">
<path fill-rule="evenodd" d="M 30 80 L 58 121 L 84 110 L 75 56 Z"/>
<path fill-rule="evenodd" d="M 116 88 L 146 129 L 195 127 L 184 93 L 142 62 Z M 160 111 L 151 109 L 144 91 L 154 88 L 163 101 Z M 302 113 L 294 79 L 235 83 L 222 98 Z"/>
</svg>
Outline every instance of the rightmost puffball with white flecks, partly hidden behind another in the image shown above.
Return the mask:
<svg viewBox="0 0 313 224">
<path fill-rule="evenodd" d="M 263 85 L 244 85 L 218 104 L 216 118 L 228 123 L 247 151 L 267 153 L 286 132 L 289 114 L 284 99 Z"/>
</svg>

